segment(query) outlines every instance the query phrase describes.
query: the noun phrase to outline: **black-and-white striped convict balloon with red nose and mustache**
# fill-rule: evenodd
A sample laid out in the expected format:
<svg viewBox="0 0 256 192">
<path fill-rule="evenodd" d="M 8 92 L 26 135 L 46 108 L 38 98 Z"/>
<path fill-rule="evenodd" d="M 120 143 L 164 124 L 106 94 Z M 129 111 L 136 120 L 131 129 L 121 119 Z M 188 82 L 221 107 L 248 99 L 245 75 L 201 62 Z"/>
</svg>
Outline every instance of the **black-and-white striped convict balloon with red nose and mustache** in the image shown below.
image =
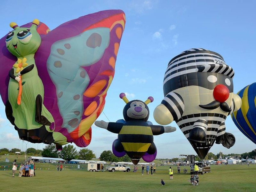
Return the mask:
<svg viewBox="0 0 256 192">
<path fill-rule="evenodd" d="M 201 159 L 215 140 L 232 147 L 235 137 L 225 131 L 225 120 L 241 106 L 233 77 L 233 69 L 216 52 L 198 48 L 180 53 L 165 72 L 165 98 L 154 111 L 156 122 L 176 121 Z"/>
</svg>

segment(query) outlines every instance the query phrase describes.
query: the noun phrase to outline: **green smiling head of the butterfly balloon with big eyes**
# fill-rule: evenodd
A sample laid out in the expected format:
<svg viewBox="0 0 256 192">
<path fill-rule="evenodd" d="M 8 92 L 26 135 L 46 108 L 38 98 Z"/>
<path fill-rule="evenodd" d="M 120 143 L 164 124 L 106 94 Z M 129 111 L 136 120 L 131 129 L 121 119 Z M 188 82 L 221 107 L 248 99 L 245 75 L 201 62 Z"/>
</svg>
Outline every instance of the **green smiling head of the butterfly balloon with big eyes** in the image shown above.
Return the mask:
<svg viewBox="0 0 256 192">
<path fill-rule="evenodd" d="M 16 57 L 34 54 L 41 44 L 41 37 L 36 31 L 36 25 L 30 28 L 15 27 L 5 39 L 6 47 Z"/>
</svg>

